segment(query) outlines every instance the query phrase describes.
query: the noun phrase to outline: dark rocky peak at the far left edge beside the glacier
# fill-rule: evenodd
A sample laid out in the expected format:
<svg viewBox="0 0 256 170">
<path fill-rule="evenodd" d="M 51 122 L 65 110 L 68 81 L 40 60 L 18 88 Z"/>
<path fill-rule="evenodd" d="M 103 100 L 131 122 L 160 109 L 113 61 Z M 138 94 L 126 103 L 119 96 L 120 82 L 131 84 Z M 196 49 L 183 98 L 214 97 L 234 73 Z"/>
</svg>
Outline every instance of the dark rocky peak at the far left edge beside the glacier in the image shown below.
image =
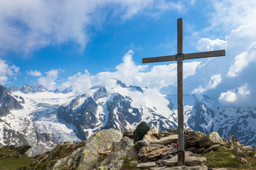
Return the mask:
<svg viewBox="0 0 256 170">
<path fill-rule="evenodd" d="M 9 114 L 11 110 L 22 109 L 21 103 L 24 102 L 21 96 L 11 94 L 11 91 L 7 90 L 5 86 L 0 85 L 0 116 Z"/>
</svg>

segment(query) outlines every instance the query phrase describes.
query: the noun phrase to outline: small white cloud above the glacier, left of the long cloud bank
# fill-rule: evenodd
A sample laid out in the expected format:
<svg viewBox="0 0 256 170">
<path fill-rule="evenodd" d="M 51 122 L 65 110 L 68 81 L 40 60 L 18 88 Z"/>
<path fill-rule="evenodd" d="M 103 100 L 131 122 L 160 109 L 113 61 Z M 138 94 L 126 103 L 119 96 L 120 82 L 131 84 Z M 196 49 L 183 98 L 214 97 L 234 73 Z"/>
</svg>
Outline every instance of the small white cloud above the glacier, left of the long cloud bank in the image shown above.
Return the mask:
<svg viewBox="0 0 256 170">
<path fill-rule="evenodd" d="M 40 77 L 38 79 L 38 84 L 46 86 L 49 90 L 56 89 L 55 80 L 58 78 L 60 69 L 51 69 L 49 72 L 46 72 L 46 77 Z"/>
</svg>

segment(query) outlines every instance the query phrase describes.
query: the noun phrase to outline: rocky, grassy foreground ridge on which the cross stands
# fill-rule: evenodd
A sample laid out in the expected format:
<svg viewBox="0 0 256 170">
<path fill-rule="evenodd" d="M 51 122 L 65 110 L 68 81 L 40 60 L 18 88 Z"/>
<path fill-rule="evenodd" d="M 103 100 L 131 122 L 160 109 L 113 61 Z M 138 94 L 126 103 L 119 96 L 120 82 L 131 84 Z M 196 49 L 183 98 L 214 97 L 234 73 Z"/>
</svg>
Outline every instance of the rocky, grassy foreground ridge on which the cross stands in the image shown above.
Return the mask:
<svg viewBox="0 0 256 170">
<path fill-rule="evenodd" d="M 220 138 L 217 132 L 205 135 L 202 132 L 193 132 L 191 129 L 185 130 L 185 137 L 186 166 L 177 166 L 177 148 L 161 162 L 178 141 L 178 135 L 176 130 L 158 131 L 154 127 L 135 145 L 132 132 L 120 132 L 114 129 L 101 130 L 83 142 L 60 143 L 51 152 L 33 157 L 31 164 L 19 170 L 256 169 L 255 149 L 240 145 L 234 137 L 228 141 Z M 6 147 L 2 147 L 0 154 L 3 148 L 6 150 Z M 27 149 L 29 147 L 18 148 L 13 156 L 16 159 L 26 157 L 24 152 Z M 1 161 L 11 156 L 1 154 L 0 157 Z M 2 167 L 8 169 L 4 165 Z"/>
</svg>

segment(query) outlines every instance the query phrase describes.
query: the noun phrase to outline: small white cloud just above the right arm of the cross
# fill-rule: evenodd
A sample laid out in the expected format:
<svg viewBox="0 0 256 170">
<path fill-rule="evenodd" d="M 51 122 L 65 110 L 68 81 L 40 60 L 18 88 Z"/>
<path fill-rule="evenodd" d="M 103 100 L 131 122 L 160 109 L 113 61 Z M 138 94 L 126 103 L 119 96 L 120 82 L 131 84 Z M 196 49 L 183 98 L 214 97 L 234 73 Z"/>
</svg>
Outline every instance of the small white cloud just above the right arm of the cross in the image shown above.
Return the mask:
<svg viewBox="0 0 256 170">
<path fill-rule="evenodd" d="M 212 51 L 212 50 L 220 50 L 227 46 L 227 41 L 225 40 L 210 40 L 208 38 L 201 38 L 197 42 L 196 49 L 199 51 Z"/>
</svg>

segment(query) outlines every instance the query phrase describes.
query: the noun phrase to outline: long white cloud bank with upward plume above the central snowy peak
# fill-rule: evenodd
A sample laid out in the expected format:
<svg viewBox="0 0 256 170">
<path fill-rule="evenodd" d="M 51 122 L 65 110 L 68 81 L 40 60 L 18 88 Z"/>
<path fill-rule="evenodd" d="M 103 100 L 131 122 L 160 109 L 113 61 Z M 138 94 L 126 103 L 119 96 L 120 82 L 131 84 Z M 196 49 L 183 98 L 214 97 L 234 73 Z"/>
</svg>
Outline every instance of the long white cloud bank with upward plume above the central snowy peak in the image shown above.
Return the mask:
<svg viewBox="0 0 256 170">
<path fill-rule="evenodd" d="M 116 79 L 124 84 L 161 89 L 169 84 L 176 86 L 177 64 L 161 64 L 149 68 L 149 65 L 138 65 L 132 60 L 134 52 L 129 50 L 122 58 L 122 63 L 117 65 L 115 72 L 100 72 L 92 75 L 87 70 L 78 73 L 61 84 L 59 89 L 70 88 L 74 91 L 89 91 L 92 86 L 114 86 Z M 196 74 L 196 69 L 201 62 L 185 62 L 183 78 Z"/>
</svg>

